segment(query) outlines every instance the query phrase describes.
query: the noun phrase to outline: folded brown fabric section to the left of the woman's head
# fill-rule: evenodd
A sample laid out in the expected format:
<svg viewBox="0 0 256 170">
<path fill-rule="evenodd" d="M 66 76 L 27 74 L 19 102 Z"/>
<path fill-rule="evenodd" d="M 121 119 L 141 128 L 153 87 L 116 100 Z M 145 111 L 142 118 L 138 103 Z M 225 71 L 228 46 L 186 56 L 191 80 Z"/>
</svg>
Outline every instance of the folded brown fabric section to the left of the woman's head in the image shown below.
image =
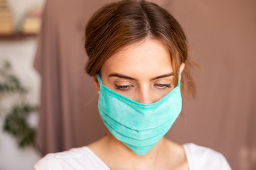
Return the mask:
<svg viewBox="0 0 256 170">
<path fill-rule="evenodd" d="M 36 140 L 43 154 L 80 147 L 106 132 L 97 91 L 84 71 L 84 28 L 91 15 L 85 1 L 46 3 L 35 61 L 42 78 Z"/>
</svg>

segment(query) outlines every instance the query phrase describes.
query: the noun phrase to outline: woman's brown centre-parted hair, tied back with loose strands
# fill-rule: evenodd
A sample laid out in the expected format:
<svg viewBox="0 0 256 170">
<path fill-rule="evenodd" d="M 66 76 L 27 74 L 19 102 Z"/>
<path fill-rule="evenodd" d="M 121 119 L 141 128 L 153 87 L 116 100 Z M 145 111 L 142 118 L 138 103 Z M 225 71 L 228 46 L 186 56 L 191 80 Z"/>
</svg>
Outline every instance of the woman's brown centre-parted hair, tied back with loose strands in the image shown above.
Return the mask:
<svg viewBox="0 0 256 170">
<path fill-rule="evenodd" d="M 85 50 L 89 56 L 85 69 L 90 76 L 100 73 L 102 64 L 125 45 L 145 38 L 164 42 L 170 52 L 175 86 L 179 67 L 184 62 L 181 89 L 195 94 L 186 36 L 176 19 L 164 8 L 149 1 L 125 0 L 107 4 L 90 18 L 85 38 Z"/>
</svg>

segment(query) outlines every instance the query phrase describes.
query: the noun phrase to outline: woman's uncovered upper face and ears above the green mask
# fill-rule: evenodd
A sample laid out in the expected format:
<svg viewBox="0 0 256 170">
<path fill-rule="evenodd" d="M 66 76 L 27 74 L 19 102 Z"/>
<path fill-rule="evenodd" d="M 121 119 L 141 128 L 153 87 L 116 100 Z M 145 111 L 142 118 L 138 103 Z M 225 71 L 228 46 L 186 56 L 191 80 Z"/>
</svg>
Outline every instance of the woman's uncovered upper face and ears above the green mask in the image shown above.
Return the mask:
<svg viewBox="0 0 256 170">
<path fill-rule="evenodd" d="M 181 72 L 184 64 L 181 64 Z M 127 45 L 101 68 L 102 84 L 139 103 L 159 101 L 174 89 L 171 57 L 167 47 L 155 39 Z M 95 77 L 97 91 L 100 85 Z"/>
</svg>

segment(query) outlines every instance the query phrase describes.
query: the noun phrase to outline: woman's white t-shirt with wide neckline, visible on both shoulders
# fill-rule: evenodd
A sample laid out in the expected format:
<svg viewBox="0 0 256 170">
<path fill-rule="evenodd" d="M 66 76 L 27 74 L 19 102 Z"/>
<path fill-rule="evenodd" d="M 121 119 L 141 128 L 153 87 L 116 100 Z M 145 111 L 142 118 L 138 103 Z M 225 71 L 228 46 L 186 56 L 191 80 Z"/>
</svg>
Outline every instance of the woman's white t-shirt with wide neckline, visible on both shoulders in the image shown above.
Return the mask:
<svg viewBox="0 0 256 170">
<path fill-rule="evenodd" d="M 223 154 L 193 143 L 183 145 L 189 170 L 229 170 L 231 169 Z M 36 170 L 59 169 L 97 169 L 110 170 L 89 147 L 70 149 L 65 152 L 47 154 L 34 166 Z"/>
</svg>

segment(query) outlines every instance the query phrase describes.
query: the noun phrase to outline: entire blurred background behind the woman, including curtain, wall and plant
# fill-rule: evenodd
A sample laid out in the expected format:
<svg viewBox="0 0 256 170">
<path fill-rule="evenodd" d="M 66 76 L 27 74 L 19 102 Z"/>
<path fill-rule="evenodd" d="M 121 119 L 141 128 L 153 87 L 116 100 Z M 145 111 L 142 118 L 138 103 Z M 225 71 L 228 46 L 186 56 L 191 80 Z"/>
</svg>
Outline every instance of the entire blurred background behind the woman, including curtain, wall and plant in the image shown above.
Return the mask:
<svg viewBox="0 0 256 170">
<path fill-rule="evenodd" d="M 153 0 L 152 0 L 153 1 Z M 0 0 L 0 169 L 32 169 L 50 152 L 107 129 L 87 76 L 85 24 L 106 0 Z M 197 95 L 166 134 L 256 169 L 256 1 L 153 1 L 181 23 Z"/>
</svg>

